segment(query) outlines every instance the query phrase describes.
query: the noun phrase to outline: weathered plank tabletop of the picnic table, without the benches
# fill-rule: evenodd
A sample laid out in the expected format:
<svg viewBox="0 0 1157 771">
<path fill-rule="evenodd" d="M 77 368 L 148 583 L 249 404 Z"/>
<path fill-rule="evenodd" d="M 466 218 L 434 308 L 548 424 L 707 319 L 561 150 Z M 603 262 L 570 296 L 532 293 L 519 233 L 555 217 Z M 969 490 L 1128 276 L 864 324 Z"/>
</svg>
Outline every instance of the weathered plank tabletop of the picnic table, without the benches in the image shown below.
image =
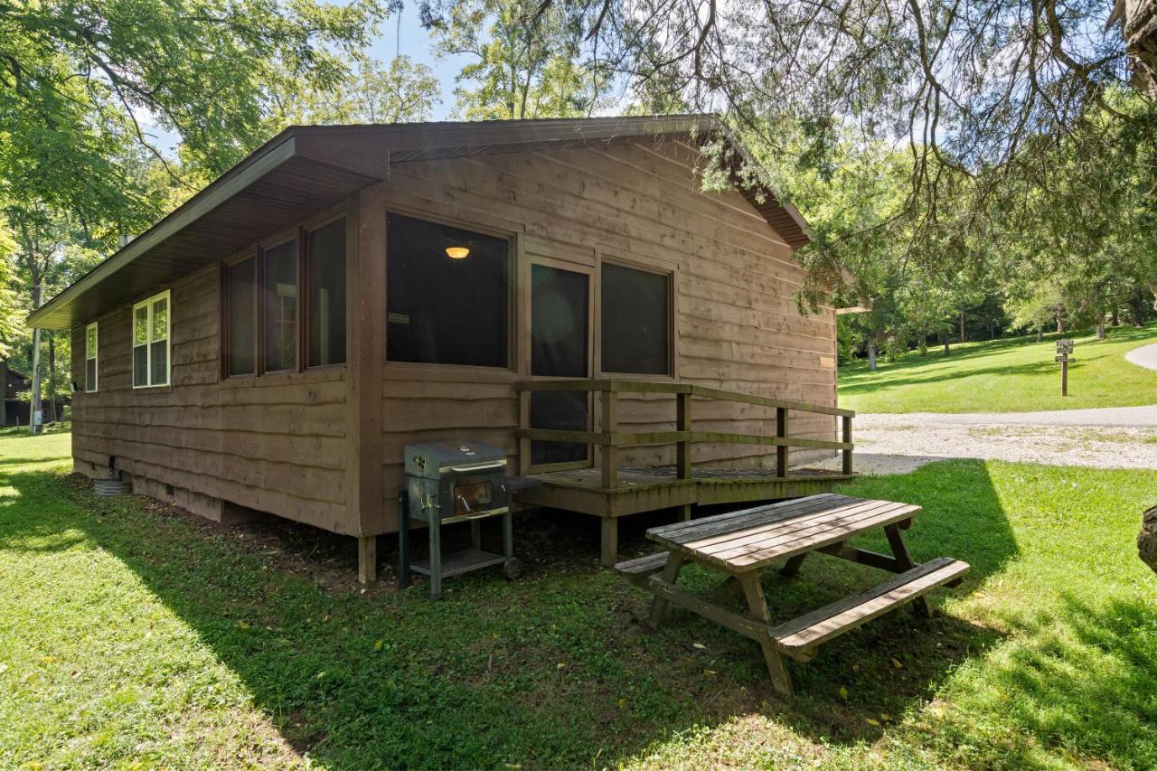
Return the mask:
<svg viewBox="0 0 1157 771">
<path fill-rule="evenodd" d="M 780 558 L 909 520 L 919 512 L 920 507 L 912 504 L 825 493 L 679 523 L 684 527 L 651 528 L 647 537 L 672 552 L 732 573 L 745 573 Z"/>
</svg>

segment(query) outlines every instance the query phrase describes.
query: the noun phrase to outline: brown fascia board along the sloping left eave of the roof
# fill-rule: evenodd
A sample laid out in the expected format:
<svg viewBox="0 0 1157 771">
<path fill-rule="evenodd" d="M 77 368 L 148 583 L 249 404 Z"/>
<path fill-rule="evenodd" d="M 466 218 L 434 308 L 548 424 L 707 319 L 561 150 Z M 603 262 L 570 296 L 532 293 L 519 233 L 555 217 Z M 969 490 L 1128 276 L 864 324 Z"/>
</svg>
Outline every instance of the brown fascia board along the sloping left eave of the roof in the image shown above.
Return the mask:
<svg viewBox="0 0 1157 771">
<path fill-rule="evenodd" d="M 130 241 L 120 251 L 109 257 L 106 260 L 78 279 L 74 284 L 69 285 L 56 298 L 29 314 L 28 323 L 31 324 L 34 329 L 37 326 L 44 328 L 44 322 L 46 320 L 50 320 L 51 316 L 68 306 L 68 303 L 83 294 L 90 287 L 110 278 L 113 273 L 132 263 L 149 249 L 161 244 L 163 241 L 172 235 L 176 235 L 189 225 L 192 225 L 198 219 L 227 201 L 229 198 L 236 196 L 253 182 L 292 159 L 295 152 L 296 147 L 294 138 L 292 135 L 287 137 L 280 144 L 274 145 L 257 157 L 251 159 L 251 162 L 248 166 L 244 166 L 244 168 L 237 168 L 234 172 L 221 177 L 215 184 L 209 185 L 199 194 L 190 198 L 172 214 L 154 225 L 141 236 Z"/>
</svg>

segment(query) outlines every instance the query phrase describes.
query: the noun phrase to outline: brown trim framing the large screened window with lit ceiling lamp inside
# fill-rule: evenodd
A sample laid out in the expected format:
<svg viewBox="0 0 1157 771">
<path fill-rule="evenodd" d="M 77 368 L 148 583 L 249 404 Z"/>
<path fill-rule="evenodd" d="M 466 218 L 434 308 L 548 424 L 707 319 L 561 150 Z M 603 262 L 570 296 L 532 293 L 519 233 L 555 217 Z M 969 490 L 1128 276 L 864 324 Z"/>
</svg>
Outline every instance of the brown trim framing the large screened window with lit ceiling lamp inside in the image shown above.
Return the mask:
<svg viewBox="0 0 1157 771">
<path fill-rule="evenodd" d="M 522 350 L 519 347 L 518 335 L 523 324 L 523 310 L 519 308 L 518 300 L 521 298 L 518 285 L 518 271 L 522 270 L 522 243 L 519 233 L 525 229 L 524 226 L 517 225 L 509 220 L 503 220 L 501 218 L 489 218 L 487 221 L 471 220 L 460 216 L 451 216 L 447 214 L 440 214 L 430 212 L 428 210 L 418 208 L 413 206 L 405 206 L 400 204 L 389 204 L 382 211 L 382 216 L 386 221 L 390 214 L 398 214 L 400 216 L 407 216 L 412 220 L 423 220 L 426 222 L 433 222 L 435 225 L 444 225 L 451 228 L 459 228 L 463 230 L 473 230 L 479 235 L 491 236 L 493 238 L 502 238 L 509 244 L 509 251 L 507 254 L 507 308 L 506 308 L 506 346 L 507 355 L 506 364 L 492 367 L 487 365 L 462 365 L 462 364 L 443 364 L 434 361 L 393 361 L 390 359 L 390 331 L 389 326 L 385 330 L 385 351 L 382 353 L 382 361 L 384 364 L 385 373 L 390 373 L 393 369 L 410 370 L 415 377 L 422 380 L 439 380 L 444 376 L 444 373 L 457 372 L 462 373 L 467 379 L 474 379 L 476 382 L 513 382 L 518 374 L 518 368 L 522 361 Z M 383 287 L 385 316 L 389 318 L 390 314 L 390 296 L 389 296 L 389 276 L 390 276 L 390 233 L 389 225 L 385 227 L 385 276 L 386 286 Z M 529 269 L 528 269 L 529 270 Z M 347 277 L 348 279 L 348 277 Z M 528 295 L 529 296 L 529 295 Z M 529 321 L 529 316 L 526 316 Z M 389 325 L 389 322 L 386 322 Z M 494 376 L 498 376 L 496 379 Z"/>
</svg>

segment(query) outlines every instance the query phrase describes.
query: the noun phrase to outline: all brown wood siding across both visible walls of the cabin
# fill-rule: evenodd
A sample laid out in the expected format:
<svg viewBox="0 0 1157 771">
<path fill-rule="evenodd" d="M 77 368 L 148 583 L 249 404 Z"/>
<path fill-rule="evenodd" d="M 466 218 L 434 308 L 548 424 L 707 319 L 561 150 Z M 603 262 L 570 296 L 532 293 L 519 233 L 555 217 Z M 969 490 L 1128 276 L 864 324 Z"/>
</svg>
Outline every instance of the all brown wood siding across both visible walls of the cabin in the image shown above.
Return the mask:
<svg viewBox="0 0 1157 771">
<path fill-rule="evenodd" d="M 131 304 L 96 320 L 101 389 L 74 398 L 75 467 L 103 473 L 115 455 L 139 490 L 209 516 L 229 501 L 347 535 L 395 531 L 406 445 L 471 438 L 503 447 L 516 460 L 515 384 L 530 370 L 529 274 L 536 259 L 592 269 L 596 293 L 603 260 L 670 271 L 676 380 L 834 405 L 833 310 L 797 313 L 793 295 L 803 270 L 790 248 L 738 192 L 702 192 L 698 162 L 693 148 L 664 142 L 397 163 L 388 182 L 347 201 L 351 314 L 362 307 L 367 318 L 379 315 L 384 322 L 377 304 L 384 286 L 382 298 L 369 302 L 371 294 L 353 277 L 384 284 L 378 260 L 386 210 L 508 233 L 515 243 L 509 368 L 407 365 L 356 354 L 362 366 L 381 373 L 375 388 L 367 388 L 371 375 L 353 364 L 221 379 L 220 271 L 213 266 L 169 287 L 169 387 L 131 387 Z M 369 249 L 366 238 L 382 243 Z M 377 336 L 359 331 L 358 318 L 348 320 L 351 357 L 379 345 Z M 590 323 L 597 362 L 597 301 Z M 83 335 L 83 324 L 73 329 L 78 373 Z M 379 416 L 370 402 L 381 404 Z M 622 431 L 673 427 L 671 398 L 624 397 L 619 412 Z M 693 412 L 702 431 L 775 431 L 774 410 L 767 407 L 697 399 Z M 834 421 L 821 416 L 793 414 L 791 431 L 835 435 Z M 673 447 L 631 448 L 620 453 L 620 463 L 671 463 L 673 453 Z M 374 468 L 367 454 L 378 479 L 367 476 Z M 758 467 L 773 464 L 774 453 L 697 446 L 693 461 Z"/>
</svg>

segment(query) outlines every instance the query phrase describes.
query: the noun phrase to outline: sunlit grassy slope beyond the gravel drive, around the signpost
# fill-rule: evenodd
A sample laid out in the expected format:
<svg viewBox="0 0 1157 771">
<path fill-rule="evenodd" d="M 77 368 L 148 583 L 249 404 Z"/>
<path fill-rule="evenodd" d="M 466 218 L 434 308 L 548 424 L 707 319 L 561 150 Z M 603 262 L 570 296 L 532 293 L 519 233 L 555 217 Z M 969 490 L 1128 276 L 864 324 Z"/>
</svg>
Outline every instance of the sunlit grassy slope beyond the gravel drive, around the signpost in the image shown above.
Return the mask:
<svg viewBox="0 0 1157 771">
<path fill-rule="evenodd" d="M 1157 403 L 1157 372 L 1125 360 L 1130 348 L 1157 343 L 1157 323 L 1092 336 L 1048 335 L 929 348 L 876 372 L 857 360 L 840 366 L 840 406 L 858 412 L 1032 412 Z M 1056 340 L 1073 338 L 1069 396 L 1061 397 Z"/>
</svg>

